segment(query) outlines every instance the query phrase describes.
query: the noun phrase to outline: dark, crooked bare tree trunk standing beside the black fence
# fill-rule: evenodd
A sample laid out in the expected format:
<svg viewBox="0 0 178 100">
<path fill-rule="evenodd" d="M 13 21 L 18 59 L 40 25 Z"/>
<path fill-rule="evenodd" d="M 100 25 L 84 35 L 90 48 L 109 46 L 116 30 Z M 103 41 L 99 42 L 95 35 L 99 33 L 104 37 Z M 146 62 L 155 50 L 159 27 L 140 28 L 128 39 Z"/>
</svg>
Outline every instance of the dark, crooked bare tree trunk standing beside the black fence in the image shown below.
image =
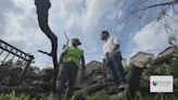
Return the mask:
<svg viewBox="0 0 178 100">
<path fill-rule="evenodd" d="M 35 4 L 37 8 L 37 15 L 38 15 L 38 24 L 43 34 L 47 35 L 47 37 L 51 41 L 52 50 L 50 53 L 39 50 L 39 52 L 42 52 L 44 54 L 48 54 L 52 57 L 54 71 L 53 71 L 53 79 L 52 79 L 52 87 L 53 90 L 55 89 L 56 78 L 58 78 L 58 37 L 53 34 L 51 28 L 48 24 L 48 11 L 51 8 L 51 3 L 49 0 L 35 0 Z"/>
</svg>

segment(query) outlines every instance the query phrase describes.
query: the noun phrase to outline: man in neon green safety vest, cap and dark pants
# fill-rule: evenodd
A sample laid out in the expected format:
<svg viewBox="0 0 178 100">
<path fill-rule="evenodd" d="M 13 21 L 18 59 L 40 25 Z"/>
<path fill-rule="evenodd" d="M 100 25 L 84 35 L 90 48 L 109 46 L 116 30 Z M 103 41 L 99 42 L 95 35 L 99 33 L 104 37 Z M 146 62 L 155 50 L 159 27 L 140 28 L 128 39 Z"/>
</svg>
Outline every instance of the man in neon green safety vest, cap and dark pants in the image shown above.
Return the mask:
<svg viewBox="0 0 178 100">
<path fill-rule="evenodd" d="M 68 80 L 67 100 L 72 98 L 78 67 L 81 65 L 85 71 L 84 50 L 79 49 L 81 42 L 78 38 L 72 39 L 72 46 L 67 47 L 61 54 L 60 63 L 62 65 L 59 82 L 56 84 L 58 100 L 62 99 L 65 83 Z"/>
</svg>

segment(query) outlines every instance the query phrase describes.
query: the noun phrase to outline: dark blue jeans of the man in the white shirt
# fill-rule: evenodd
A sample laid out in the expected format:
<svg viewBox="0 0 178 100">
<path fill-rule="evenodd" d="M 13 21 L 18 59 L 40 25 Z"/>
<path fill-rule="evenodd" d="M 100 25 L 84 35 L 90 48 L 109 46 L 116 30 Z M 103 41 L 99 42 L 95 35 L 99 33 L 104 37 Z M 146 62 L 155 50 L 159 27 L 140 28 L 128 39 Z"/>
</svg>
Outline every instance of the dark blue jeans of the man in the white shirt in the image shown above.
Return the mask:
<svg viewBox="0 0 178 100">
<path fill-rule="evenodd" d="M 125 71 L 122 64 L 120 52 L 109 53 L 105 59 L 104 65 L 109 68 L 116 86 L 120 85 L 120 82 L 125 82 Z"/>
</svg>

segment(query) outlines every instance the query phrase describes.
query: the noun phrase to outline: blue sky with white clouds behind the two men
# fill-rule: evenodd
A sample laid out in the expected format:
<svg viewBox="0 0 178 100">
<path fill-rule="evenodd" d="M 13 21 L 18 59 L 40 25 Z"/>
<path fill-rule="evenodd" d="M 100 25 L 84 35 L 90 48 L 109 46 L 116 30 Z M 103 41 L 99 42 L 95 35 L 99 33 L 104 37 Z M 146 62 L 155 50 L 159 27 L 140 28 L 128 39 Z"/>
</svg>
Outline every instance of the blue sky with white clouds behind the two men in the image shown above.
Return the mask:
<svg viewBox="0 0 178 100">
<path fill-rule="evenodd" d="M 102 61 L 100 33 L 103 29 L 117 36 L 125 59 L 139 51 L 157 54 L 168 47 L 168 36 L 178 37 L 177 5 L 167 10 L 167 15 L 156 21 L 161 8 L 128 15 L 135 9 L 169 0 L 51 0 L 49 25 L 59 38 L 59 57 L 66 43 L 63 32 L 69 38 L 78 37 L 85 50 L 87 63 Z M 0 0 L 0 39 L 35 57 L 34 65 L 40 68 L 52 65 L 51 58 L 37 50 L 49 52 L 51 43 L 40 30 L 34 0 Z M 165 29 L 164 24 L 171 30 Z"/>
</svg>

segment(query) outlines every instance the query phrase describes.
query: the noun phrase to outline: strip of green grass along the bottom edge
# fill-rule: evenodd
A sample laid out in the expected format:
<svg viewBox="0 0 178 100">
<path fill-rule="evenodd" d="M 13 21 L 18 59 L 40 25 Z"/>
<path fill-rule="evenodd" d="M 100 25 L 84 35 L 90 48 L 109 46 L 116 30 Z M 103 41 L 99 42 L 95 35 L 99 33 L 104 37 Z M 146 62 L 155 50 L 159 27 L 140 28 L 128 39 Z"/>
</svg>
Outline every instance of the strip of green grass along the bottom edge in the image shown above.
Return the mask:
<svg viewBox="0 0 178 100">
<path fill-rule="evenodd" d="M 98 95 L 92 97 L 87 97 L 86 100 L 123 100 L 123 93 L 117 93 L 113 96 Z M 15 90 L 11 93 L 1 93 L 0 100 L 37 100 L 36 98 L 30 98 L 27 95 L 21 93 L 16 95 Z M 40 100 L 54 100 L 53 95 L 41 95 Z M 84 100 L 84 99 L 72 99 L 72 100 Z M 178 92 L 174 93 L 148 93 L 138 91 L 135 100 L 178 100 Z"/>
</svg>

